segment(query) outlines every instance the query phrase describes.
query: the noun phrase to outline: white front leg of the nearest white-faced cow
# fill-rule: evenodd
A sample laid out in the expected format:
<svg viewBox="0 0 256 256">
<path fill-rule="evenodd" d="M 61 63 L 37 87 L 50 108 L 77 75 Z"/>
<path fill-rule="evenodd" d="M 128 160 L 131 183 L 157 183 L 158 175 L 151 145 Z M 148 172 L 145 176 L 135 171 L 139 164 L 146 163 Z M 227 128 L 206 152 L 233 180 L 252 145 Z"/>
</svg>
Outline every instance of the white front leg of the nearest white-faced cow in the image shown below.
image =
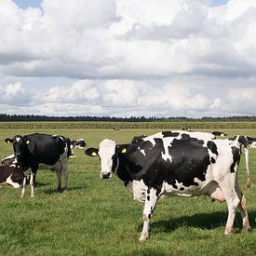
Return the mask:
<svg viewBox="0 0 256 256">
<path fill-rule="evenodd" d="M 156 190 L 154 188 L 148 188 L 146 191 L 146 199 L 143 209 L 143 228 L 141 231 L 141 237 L 139 239 L 140 241 L 145 241 L 149 238 L 149 222 L 152 218 L 157 198 Z"/>
</svg>

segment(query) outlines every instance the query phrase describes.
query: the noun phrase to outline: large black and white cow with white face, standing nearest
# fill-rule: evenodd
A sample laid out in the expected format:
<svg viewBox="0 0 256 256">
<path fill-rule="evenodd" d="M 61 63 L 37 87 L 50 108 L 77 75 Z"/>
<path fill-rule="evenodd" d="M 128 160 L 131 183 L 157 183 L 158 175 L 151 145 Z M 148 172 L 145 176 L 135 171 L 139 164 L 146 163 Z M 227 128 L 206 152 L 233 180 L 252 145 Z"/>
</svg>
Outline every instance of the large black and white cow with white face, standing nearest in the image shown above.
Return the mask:
<svg viewBox="0 0 256 256">
<path fill-rule="evenodd" d="M 106 139 L 99 149 L 89 148 L 86 154 L 100 157 L 101 179 L 110 179 L 116 173 L 134 198 L 144 201 L 140 241 L 149 238 L 155 203 L 163 194 L 209 195 L 226 201 L 224 234 L 232 234 L 236 208 L 242 216 L 243 230 L 250 230 L 246 198 L 237 182 L 238 141 L 195 139 L 182 132 L 164 131 L 138 143 L 117 145 Z"/>
</svg>

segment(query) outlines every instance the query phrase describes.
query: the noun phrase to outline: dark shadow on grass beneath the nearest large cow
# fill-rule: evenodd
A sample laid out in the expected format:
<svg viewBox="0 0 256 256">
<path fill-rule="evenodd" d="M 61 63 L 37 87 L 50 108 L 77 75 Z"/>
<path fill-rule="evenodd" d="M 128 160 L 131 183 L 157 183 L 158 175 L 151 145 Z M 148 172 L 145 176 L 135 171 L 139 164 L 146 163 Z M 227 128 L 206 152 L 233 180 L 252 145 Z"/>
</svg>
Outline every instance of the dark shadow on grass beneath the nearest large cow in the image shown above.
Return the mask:
<svg viewBox="0 0 256 256">
<path fill-rule="evenodd" d="M 153 217 L 154 218 L 154 217 Z M 179 218 L 169 218 L 169 220 L 151 222 L 151 229 L 157 232 L 172 232 L 182 226 L 190 226 L 201 229 L 215 229 L 225 226 L 227 221 L 227 211 L 217 211 L 213 213 L 200 213 L 192 216 L 182 216 Z M 253 228 L 256 227 L 256 211 L 249 211 L 249 222 Z M 242 229 L 242 220 L 239 212 L 236 212 L 234 227 Z M 142 223 L 138 228 L 141 231 Z"/>
</svg>

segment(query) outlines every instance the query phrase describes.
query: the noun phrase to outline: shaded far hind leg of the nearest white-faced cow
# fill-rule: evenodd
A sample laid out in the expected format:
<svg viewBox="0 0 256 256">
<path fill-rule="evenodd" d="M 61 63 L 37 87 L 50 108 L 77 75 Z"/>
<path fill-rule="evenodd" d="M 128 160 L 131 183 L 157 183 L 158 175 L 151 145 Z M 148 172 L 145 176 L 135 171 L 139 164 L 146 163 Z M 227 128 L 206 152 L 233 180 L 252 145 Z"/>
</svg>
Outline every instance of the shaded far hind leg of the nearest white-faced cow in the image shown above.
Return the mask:
<svg viewBox="0 0 256 256">
<path fill-rule="evenodd" d="M 242 221 L 243 221 L 243 231 L 244 232 L 249 232 L 251 230 L 250 224 L 249 224 L 249 214 L 248 214 L 248 209 L 247 209 L 247 200 L 245 195 L 243 195 L 237 181 L 236 177 L 236 194 L 239 197 L 239 204 L 238 204 L 238 209 L 240 211 Z"/>
</svg>

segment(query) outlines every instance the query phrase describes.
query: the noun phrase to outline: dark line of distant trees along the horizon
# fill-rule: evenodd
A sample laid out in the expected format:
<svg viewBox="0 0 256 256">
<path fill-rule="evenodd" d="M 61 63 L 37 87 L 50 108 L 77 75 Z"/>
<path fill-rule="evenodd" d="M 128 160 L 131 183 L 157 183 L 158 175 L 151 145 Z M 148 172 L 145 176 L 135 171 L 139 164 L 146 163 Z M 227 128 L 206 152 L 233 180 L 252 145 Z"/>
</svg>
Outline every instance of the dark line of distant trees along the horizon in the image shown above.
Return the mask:
<svg viewBox="0 0 256 256">
<path fill-rule="evenodd" d="M 115 116 L 47 116 L 47 115 L 7 115 L 0 114 L 0 122 L 83 122 L 83 121 L 110 121 L 110 122 L 256 122 L 256 116 L 225 116 L 192 118 L 185 116 L 173 117 L 115 117 Z"/>
</svg>

